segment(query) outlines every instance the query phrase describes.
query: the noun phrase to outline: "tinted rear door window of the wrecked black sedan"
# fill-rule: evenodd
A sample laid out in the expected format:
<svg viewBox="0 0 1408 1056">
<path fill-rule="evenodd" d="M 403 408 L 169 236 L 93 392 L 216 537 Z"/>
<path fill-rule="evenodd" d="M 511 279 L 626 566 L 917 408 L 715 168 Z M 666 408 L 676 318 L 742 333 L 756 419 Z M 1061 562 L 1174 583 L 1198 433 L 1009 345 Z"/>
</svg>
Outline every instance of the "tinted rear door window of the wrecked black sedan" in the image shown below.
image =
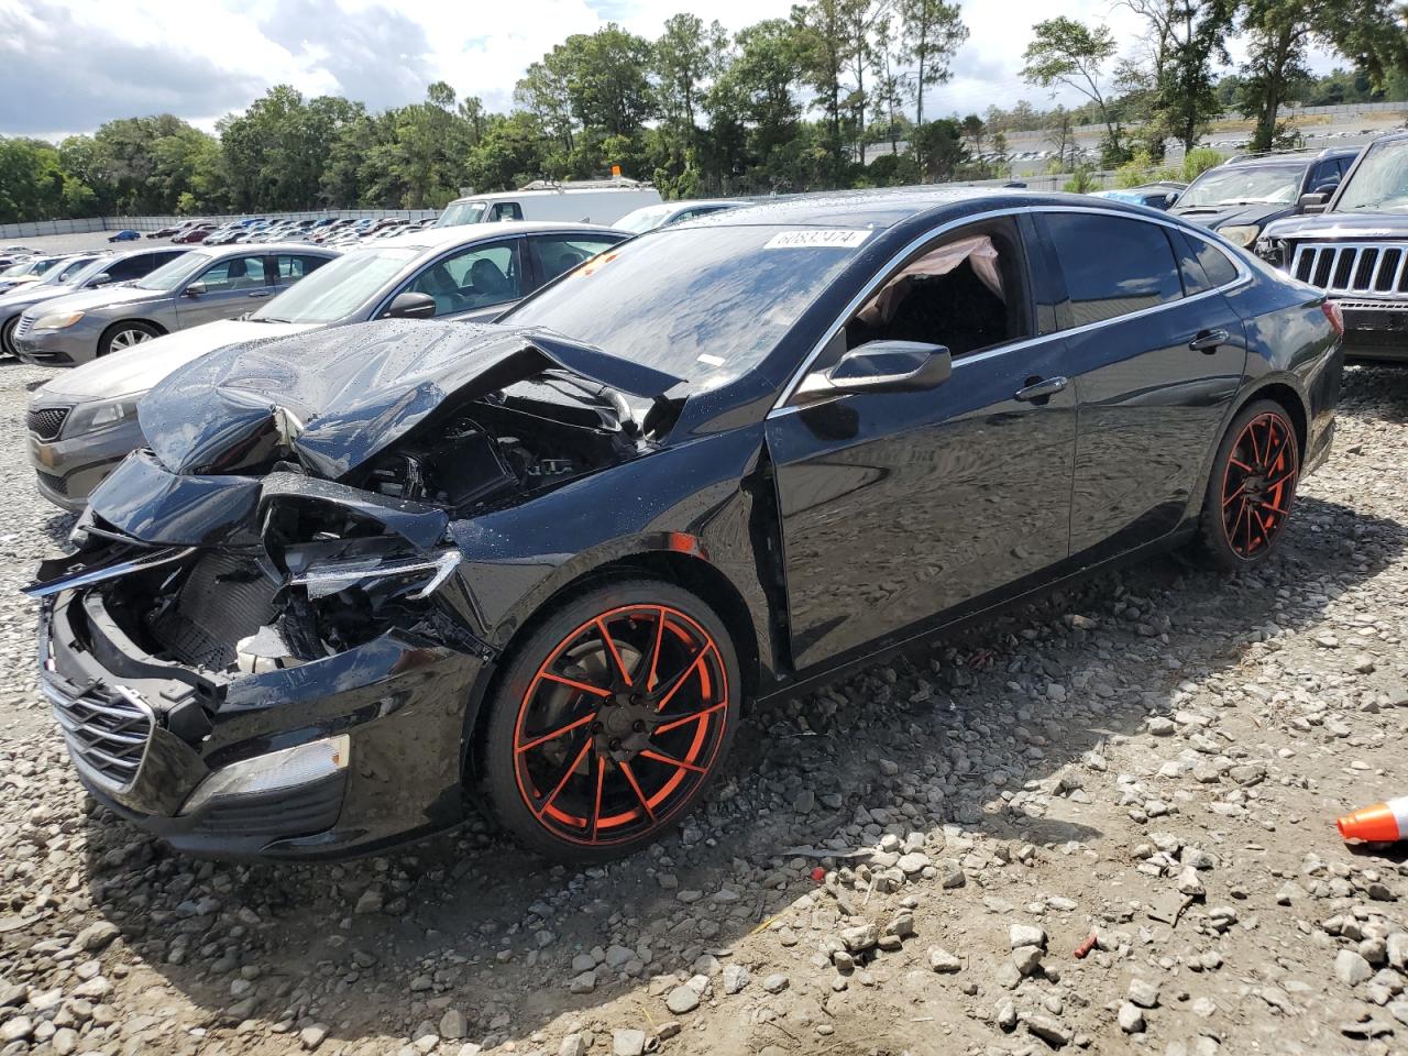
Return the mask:
<svg viewBox="0 0 1408 1056">
<path fill-rule="evenodd" d="M 1039 221 L 1066 279 L 1071 327 L 1183 297 L 1178 262 L 1162 224 L 1094 213 L 1041 214 Z"/>
</svg>

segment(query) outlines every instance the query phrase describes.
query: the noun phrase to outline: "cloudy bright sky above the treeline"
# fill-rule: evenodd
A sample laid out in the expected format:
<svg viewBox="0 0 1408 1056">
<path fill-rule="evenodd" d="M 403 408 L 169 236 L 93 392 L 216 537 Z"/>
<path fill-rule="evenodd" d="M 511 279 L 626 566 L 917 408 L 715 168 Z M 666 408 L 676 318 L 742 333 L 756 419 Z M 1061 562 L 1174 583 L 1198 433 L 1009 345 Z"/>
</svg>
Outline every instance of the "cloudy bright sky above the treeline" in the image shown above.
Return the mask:
<svg viewBox="0 0 1408 1056">
<path fill-rule="evenodd" d="M 507 110 L 528 63 L 574 32 L 618 23 L 655 38 L 693 10 L 729 30 L 793 0 L 0 0 L 0 135 L 61 138 L 115 117 L 172 113 L 213 131 L 279 83 L 373 110 L 420 101 L 445 80 Z M 1111 0 L 960 0 L 970 37 L 928 114 L 981 113 L 1052 96 L 1022 83 L 1031 25 L 1059 14 L 1105 23 L 1132 51 L 1139 20 Z M 1328 56 L 1312 66 L 1328 70 Z M 1079 104 L 1074 93 L 1059 101 Z"/>
</svg>

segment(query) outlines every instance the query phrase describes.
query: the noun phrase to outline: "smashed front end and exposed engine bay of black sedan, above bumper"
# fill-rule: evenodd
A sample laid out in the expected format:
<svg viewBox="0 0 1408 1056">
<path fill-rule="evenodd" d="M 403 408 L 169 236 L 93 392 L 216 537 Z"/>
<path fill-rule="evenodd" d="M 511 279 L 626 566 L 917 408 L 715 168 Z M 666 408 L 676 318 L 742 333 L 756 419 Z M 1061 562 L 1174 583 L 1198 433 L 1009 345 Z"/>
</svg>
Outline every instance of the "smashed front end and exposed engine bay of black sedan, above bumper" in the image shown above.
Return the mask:
<svg viewBox="0 0 1408 1056">
<path fill-rule="evenodd" d="M 473 328 L 456 337 L 466 334 Z M 124 462 L 75 529 L 77 552 L 41 565 L 30 593 L 87 587 L 144 653 L 215 686 L 389 631 L 483 653 L 465 629 L 477 621 L 455 576 L 463 553 L 446 532 L 451 521 L 525 501 L 653 444 L 618 389 L 521 339 L 507 356 L 503 334 L 490 339 L 484 373 L 498 387 L 486 391 L 484 379 L 470 376 L 429 400 L 427 367 L 420 379 L 404 373 L 400 391 L 375 393 L 360 417 L 318 407 L 318 393 L 296 387 L 273 403 L 283 379 L 266 349 L 251 359 L 270 390 L 260 401 L 245 379 L 217 382 L 211 396 L 208 365 L 197 365 L 207 375 L 200 396 L 214 404 L 208 428 L 177 428 Z M 463 373 L 463 362 L 452 369 Z M 165 397 L 175 417 L 173 404 L 190 393 L 190 384 L 153 390 L 144 428 L 152 403 L 161 408 Z M 339 436 L 366 458 L 334 476 Z M 184 534 L 161 538 L 173 531 Z"/>
</svg>

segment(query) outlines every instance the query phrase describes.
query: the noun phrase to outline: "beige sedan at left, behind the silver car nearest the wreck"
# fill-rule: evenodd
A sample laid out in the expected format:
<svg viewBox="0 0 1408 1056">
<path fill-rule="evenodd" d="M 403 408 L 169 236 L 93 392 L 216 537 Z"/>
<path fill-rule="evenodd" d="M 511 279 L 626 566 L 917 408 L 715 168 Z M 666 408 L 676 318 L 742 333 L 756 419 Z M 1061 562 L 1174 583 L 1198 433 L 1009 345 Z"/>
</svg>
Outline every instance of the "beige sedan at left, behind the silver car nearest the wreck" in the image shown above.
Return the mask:
<svg viewBox="0 0 1408 1056">
<path fill-rule="evenodd" d="M 338 256 L 310 245 L 193 249 L 130 286 L 84 290 L 20 315 L 25 363 L 73 366 L 172 331 L 244 315 Z"/>
</svg>

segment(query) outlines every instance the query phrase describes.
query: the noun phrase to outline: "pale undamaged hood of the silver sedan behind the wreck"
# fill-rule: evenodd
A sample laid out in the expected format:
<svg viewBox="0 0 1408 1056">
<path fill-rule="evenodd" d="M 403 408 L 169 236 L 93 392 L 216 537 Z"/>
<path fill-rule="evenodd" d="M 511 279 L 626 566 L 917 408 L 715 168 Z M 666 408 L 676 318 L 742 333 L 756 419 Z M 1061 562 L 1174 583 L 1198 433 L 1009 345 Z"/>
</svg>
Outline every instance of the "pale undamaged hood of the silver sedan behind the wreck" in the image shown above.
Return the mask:
<svg viewBox="0 0 1408 1056">
<path fill-rule="evenodd" d="M 92 363 L 65 370 L 45 383 L 45 396 L 75 400 L 97 400 L 111 396 L 145 393 L 166 375 L 199 359 L 217 348 L 258 338 L 276 338 L 310 329 L 300 322 L 249 322 L 248 320 L 220 320 L 204 327 L 179 329 L 175 334 L 142 342 L 141 348 L 110 352 Z"/>
</svg>

